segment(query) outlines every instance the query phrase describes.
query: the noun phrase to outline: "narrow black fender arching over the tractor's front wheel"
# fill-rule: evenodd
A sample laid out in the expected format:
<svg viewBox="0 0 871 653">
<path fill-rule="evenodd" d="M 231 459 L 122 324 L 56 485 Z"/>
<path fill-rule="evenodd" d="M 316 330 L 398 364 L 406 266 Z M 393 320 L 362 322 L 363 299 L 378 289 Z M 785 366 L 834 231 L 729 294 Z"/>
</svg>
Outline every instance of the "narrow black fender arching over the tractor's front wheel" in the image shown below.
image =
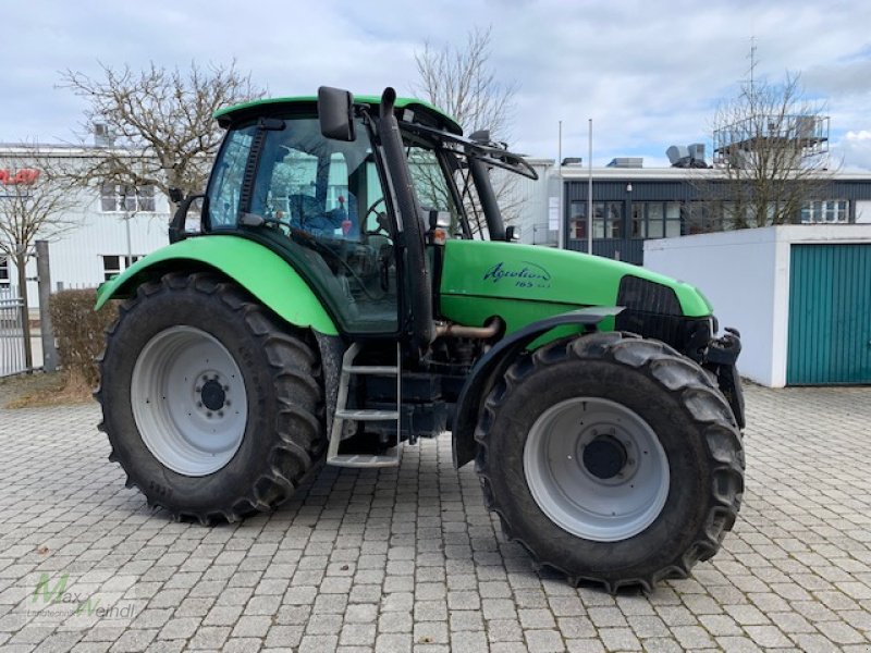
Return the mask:
<svg viewBox="0 0 871 653">
<path fill-rule="evenodd" d="M 505 373 L 527 346 L 557 326 L 578 324 L 592 328 L 622 310 L 623 307 L 619 306 L 591 306 L 532 322 L 501 340 L 484 354 L 475 364 L 456 402 L 454 421 L 451 427 L 454 466 L 459 469 L 475 458 L 475 427 L 478 423 L 482 402 L 493 387 L 495 380 Z"/>
</svg>

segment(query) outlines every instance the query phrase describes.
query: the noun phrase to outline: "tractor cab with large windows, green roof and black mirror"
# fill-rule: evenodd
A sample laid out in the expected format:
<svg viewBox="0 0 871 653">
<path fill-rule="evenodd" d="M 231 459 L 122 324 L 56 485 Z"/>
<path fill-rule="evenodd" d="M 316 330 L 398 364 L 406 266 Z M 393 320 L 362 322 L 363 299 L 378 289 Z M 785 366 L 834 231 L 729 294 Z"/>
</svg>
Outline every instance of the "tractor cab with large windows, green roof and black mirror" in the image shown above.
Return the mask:
<svg viewBox="0 0 871 653">
<path fill-rule="evenodd" d="M 199 225 L 184 230 L 183 205 L 172 241 L 232 234 L 262 244 L 316 288 L 342 333 L 410 334 L 426 349 L 436 335 L 426 310 L 441 261 L 433 249 L 505 239 L 489 169 L 536 172 L 483 135 L 464 138 L 425 102 L 348 95 L 321 89 L 317 99 L 219 112 L 228 135 Z"/>
</svg>

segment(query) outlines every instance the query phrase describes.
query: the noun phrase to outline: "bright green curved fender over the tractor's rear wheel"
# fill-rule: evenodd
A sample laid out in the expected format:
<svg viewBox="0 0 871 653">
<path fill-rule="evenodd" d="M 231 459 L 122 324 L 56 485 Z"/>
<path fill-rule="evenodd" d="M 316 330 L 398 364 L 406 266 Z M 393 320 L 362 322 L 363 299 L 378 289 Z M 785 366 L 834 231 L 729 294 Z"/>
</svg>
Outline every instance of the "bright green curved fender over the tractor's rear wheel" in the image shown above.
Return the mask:
<svg viewBox="0 0 871 653">
<path fill-rule="evenodd" d="M 290 263 L 262 245 L 230 235 L 198 236 L 158 249 L 102 284 L 95 309 L 113 297 L 133 295 L 146 280 L 184 270 L 192 262 L 229 276 L 291 324 L 323 335 L 339 334 L 317 295 Z"/>
</svg>

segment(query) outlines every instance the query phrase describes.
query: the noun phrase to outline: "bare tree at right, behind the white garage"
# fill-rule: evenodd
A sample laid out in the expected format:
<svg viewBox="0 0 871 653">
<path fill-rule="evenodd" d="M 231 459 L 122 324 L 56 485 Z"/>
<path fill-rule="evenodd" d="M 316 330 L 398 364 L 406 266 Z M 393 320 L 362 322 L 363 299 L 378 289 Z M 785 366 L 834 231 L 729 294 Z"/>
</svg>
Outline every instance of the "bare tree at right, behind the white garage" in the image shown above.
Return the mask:
<svg viewBox="0 0 871 653">
<path fill-rule="evenodd" d="M 721 103 L 714 119 L 721 175 L 698 184 L 709 214 L 724 229 L 787 224 L 807 202 L 823 198 L 831 172 L 822 109 L 805 98 L 795 74 L 783 84 L 746 82 Z"/>
</svg>

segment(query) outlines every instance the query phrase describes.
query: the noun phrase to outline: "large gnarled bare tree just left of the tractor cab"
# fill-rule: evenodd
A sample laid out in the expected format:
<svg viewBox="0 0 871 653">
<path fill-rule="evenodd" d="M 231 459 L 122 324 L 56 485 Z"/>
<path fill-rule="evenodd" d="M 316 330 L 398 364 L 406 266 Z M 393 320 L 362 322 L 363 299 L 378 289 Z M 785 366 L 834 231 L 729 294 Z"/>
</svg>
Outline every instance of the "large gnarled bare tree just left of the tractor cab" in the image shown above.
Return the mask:
<svg viewBox="0 0 871 653">
<path fill-rule="evenodd" d="M 88 132 L 101 125 L 111 147 L 95 148 L 76 173 L 84 184 L 124 188 L 154 186 L 167 196 L 201 192 L 222 131 L 212 119 L 220 108 L 262 97 L 263 91 L 230 65 L 186 71 L 154 63 L 144 71 L 102 66 L 102 76 L 65 71 L 62 88 L 88 101 Z"/>
</svg>

